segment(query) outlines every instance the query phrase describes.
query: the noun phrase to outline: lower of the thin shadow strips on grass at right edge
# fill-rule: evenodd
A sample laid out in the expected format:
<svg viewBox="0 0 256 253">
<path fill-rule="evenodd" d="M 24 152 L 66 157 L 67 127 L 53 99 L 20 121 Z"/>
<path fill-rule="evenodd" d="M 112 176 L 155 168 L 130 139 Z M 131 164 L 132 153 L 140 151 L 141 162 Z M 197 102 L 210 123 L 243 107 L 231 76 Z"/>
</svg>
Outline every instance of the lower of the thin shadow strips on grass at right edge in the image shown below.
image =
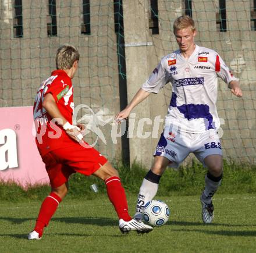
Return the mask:
<svg viewBox="0 0 256 253">
<path fill-rule="evenodd" d="M 200 229 L 172 229 L 172 231 L 176 232 L 197 232 L 197 233 L 205 233 L 205 234 L 216 234 L 218 236 L 256 236 L 256 229 L 254 231 L 229 231 L 229 230 L 219 230 L 219 231 L 209 231 L 209 230 L 200 230 Z"/>
</svg>

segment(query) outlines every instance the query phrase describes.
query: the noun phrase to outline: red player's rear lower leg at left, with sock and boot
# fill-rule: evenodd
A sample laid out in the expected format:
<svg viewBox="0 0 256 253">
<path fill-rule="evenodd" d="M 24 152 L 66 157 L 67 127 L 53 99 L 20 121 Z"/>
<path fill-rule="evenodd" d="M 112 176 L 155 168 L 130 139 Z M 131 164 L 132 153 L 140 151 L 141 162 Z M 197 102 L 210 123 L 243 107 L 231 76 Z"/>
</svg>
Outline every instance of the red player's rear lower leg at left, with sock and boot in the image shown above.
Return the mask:
<svg viewBox="0 0 256 253">
<path fill-rule="evenodd" d="M 42 238 L 44 227 L 48 226 L 48 223 L 58 208 L 59 203 L 66 194 L 67 183 L 62 184 L 62 186 L 59 187 L 52 187 L 51 193 L 42 202 L 34 230 L 27 236 L 29 240 L 40 240 Z"/>
</svg>

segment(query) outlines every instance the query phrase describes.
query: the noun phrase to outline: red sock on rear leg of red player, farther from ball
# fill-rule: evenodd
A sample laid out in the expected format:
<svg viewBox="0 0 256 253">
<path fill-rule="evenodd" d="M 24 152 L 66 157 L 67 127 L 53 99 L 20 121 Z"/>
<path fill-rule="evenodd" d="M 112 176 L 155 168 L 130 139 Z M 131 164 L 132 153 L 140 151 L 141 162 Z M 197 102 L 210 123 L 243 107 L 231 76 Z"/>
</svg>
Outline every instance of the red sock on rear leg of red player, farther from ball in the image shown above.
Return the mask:
<svg viewBox="0 0 256 253">
<path fill-rule="evenodd" d="M 49 221 L 54 215 L 59 203 L 61 203 L 61 198 L 55 194 L 49 194 L 42 202 L 41 209 L 38 214 L 37 222 L 35 223 L 34 230 L 37 231 L 39 237 L 42 236 L 44 227 L 46 227 Z"/>
</svg>

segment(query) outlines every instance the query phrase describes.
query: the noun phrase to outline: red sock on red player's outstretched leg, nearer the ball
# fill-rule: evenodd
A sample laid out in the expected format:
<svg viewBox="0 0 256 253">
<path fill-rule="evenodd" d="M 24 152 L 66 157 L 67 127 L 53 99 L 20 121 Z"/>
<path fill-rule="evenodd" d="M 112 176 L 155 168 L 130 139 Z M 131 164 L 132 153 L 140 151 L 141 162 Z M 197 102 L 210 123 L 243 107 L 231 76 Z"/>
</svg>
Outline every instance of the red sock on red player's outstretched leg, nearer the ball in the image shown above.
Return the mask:
<svg viewBox="0 0 256 253">
<path fill-rule="evenodd" d="M 128 213 L 125 189 L 123 188 L 119 177 L 109 177 L 109 179 L 105 181 L 105 184 L 108 198 L 115 207 L 116 213 L 118 213 L 118 218 L 125 220 L 125 222 L 129 222 L 131 216 Z"/>
</svg>

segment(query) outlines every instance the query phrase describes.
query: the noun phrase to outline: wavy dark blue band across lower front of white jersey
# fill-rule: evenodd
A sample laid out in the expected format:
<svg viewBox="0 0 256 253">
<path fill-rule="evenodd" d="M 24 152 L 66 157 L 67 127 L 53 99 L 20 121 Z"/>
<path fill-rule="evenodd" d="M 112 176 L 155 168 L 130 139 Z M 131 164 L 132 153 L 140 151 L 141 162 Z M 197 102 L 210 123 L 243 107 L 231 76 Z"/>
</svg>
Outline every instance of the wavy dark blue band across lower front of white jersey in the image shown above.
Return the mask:
<svg viewBox="0 0 256 253">
<path fill-rule="evenodd" d="M 170 99 L 170 106 L 177 107 L 177 109 L 182 113 L 187 120 L 191 119 L 205 119 L 205 129 L 215 129 L 215 122 L 213 121 L 213 117 L 209 112 L 208 105 L 180 105 L 177 106 L 177 94 L 172 92 L 172 98 Z"/>
</svg>

